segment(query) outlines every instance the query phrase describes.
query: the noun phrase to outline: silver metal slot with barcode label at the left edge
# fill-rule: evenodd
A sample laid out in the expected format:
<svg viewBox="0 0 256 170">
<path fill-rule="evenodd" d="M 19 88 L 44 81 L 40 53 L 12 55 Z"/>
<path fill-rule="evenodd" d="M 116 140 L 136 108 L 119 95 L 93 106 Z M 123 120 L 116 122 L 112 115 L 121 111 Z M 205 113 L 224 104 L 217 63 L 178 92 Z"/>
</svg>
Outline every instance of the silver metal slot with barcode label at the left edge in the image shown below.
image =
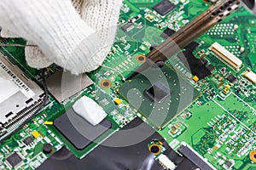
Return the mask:
<svg viewBox="0 0 256 170">
<path fill-rule="evenodd" d="M 41 109 L 44 91 L 0 53 L 0 140 Z"/>
</svg>

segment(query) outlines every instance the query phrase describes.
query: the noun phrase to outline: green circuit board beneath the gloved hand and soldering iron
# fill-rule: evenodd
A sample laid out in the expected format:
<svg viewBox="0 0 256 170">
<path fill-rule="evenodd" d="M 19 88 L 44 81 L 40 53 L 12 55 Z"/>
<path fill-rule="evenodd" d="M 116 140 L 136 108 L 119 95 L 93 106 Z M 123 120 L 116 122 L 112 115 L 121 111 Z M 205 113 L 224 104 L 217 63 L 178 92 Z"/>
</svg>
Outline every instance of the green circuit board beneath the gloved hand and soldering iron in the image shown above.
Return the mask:
<svg viewBox="0 0 256 170">
<path fill-rule="evenodd" d="M 15 168 L 36 169 L 63 145 L 66 145 L 76 157 L 83 158 L 94 150 L 97 144 L 101 144 L 108 136 L 137 116 L 154 127 L 174 150 L 185 142 L 216 169 L 256 169 L 256 158 L 252 158 L 253 150 L 256 150 L 256 84 L 244 76 L 246 71 L 256 73 L 256 17 L 245 8 L 239 8 L 236 13 L 230 14 L 218 26 L 214 26 L 212 30 L 195 40 L 198 47 L 193 50 L 193 54 L 196 59 L 203 57 L 207 59 L 207 65 L 214 66 L 211 75 L 195 81 L 195 75 L 176 55 L 166 61 L 166 66 L 161 71 L 164 72 L 167 82 L 168 77 L 174 75 L 175 80 L 183 84 L 182 88 L 189 89 L 191 98 L 189 101 L 183 100 L 185 103 L 182 108 L 176 108 L 174 114 L 167 113 L 163 121 L 160 116 L 148 115 L 152 110 L 148 105 L 154 104 L 153 101 L 145 99 L 142 108 L 137 108 L 136 104 L 141 94 L 135 93 L 131 98 L 125 96 L 125 93 L 136 88 L 139 83 L 143 84 L 139 86 L 142 92 L 154 84 L 147 82 L 145 77 L 130 82 L 123 82 L 122 79 L 143 64 L 143 56 L 150 52 L 150 47 L 165 41 L 165 38 L 161 37 L 163 31 L 166 28 L 178 31 L 211 5 L 210 2 L 203 0 L 171 2 L 175 4 L 175 8 L 161 16 L 153 9 L 160 0 L 125 0 L 120 12 L 116 42 L 102 64 L 104 66 L 88 73 L 94 84 L 61 104 L 49 94 L 49 103 L 43 111 L 33 116 L 30 122 L 0 144 L 0 169 L 11 169 L 7 159 L 13 153 L 18 153 L 22 158 L 22 162 Z M 132 25 L 125 27 L 127 23 Z M 22 39 L 6 39 L 3 42 L 26 43 Z M 214 42 L 218 42 L 241 59 L 242 65 L 239 70 L 231 68 L 212 53 L 210 47 Z M 26 64 L 24 48 L 1 48 L 1 52 L 18 65 L 26 77 L 30 77 L 42 87 L 41 71 Z M 47 77 L 58 70 L 59 67 L 51 65 Z M 227 77 L 230 75 L 236 77 L 236 82 L 229 82 Z M 108 88 L 102 86 L 102 82 L 106 81 Z M 176 83 L 173 80 L 169 85 L 172 96 L 178 88 L 175 88 Z M 181 90 L 181 93 L 171 97 L 174 106 L 179 105 L 180 100 L 176 99 L 182 93 L 186 92 Z M 77 150 L 54 126 L 44 122 L 54 122 L 83 95 L 96 100 L 96 103 L 102 106 L 113 126 L 84 150 Z M 116 105 L 115 99 L 121 99 L 121 104 Z M 159 108 L 169 106 L 170 104 L 164 101 Z M 173 108 L 171 106 L 170 110 Z M 39 137 L 33 139 L 32 144 L 26 145 L 24 139 L 32 137 L 35 131 L 39 133 Z M 47 143 L 52 144 L 54 148 L 50 155 L 42 152 L 43 145 Z"/>
</svg>

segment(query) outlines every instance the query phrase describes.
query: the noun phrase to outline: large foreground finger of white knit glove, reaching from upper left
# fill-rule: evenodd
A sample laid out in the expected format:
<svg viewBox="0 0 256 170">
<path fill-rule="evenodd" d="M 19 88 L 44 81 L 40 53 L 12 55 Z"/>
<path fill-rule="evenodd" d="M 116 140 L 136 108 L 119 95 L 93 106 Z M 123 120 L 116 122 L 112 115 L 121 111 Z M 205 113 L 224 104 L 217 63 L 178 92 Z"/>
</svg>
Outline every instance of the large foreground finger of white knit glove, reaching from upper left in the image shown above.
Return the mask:
<svg viewBox="0 0 256 170">
<path fill-rule="evenodd" d="M 73 74 L 99 65 L 92 58 L 97 56 L 100 38 L 69 0 L 3 0 L 0 26 L 38 44 L 49 60 Z"/>
</svg>

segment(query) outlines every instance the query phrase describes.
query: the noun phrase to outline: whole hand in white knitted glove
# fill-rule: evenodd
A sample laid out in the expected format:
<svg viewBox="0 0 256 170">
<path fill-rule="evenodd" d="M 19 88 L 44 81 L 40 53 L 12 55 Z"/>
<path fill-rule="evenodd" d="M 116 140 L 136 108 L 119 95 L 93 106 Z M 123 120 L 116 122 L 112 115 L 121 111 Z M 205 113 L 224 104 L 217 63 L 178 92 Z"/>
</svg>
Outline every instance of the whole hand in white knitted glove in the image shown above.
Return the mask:
<svg viewBox="0 0 256 170">
<path fill-rule="evenodd" d="M 93 71 L 113 45 L 121 5 L 122 0 L 2 0 L 2 36 L 15 33 L 38 45 L 26 47 L 34 68 L 55 63 L 73 74 Z"/>
</svg>

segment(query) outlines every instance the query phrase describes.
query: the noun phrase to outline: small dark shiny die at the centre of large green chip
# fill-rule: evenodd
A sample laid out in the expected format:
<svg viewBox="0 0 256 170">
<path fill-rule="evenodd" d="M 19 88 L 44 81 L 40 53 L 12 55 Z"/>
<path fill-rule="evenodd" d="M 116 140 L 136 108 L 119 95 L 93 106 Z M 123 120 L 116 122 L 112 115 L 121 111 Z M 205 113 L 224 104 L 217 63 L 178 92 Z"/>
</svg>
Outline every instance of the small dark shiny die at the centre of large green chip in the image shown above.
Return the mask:
<svg viewBox="0 0 256 170">
<path fill-rule="evenodd" d="M 166 99 L 171 94 L 171 91 L 162 82 L 155 82 L 152 87 L 148 88 L 146 93 L 151 99 L 160 102 Z"/>
</svg>

